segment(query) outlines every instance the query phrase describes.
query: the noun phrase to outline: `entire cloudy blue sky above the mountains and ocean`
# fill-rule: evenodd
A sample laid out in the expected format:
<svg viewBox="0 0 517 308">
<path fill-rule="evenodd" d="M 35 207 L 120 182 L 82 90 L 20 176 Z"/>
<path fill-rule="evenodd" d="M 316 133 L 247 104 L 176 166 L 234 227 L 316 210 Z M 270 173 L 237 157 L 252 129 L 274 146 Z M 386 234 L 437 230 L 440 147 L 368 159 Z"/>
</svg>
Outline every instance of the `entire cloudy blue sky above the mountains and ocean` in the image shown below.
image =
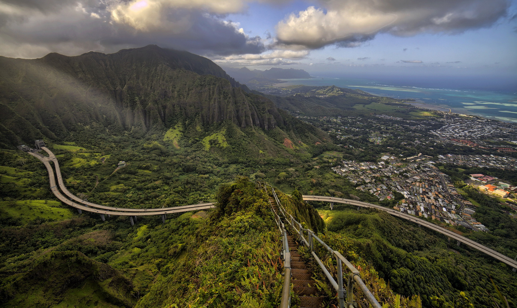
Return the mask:
<svg viewBox="0 0 517 308">
<path fill-rule="evenodd" d="M 517 76 L 517 0 L 0 0 L 0 55 L 157 44 L 224 67 Z"/>
</svg>

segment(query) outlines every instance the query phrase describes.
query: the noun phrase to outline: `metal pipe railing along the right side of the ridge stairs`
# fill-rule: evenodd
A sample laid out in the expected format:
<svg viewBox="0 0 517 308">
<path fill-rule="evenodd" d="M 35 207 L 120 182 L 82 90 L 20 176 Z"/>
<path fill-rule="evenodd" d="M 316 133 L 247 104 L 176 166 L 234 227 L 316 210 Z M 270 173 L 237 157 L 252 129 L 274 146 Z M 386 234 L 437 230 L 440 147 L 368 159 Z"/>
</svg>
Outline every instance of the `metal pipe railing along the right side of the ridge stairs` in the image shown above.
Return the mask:
<svg viewBox="0 0 517 308">
<path fill-rule="evenodd" d="M 354 308 L 356 306 L 356 301 L 354 300 L 354 283 L 356 283 L 359 288 L 361 289 L 362 293 L 364 294 L 364 297 L 370 302 L 373 308 L 382 308 L 381 304 L 375 299 L 375 296 L 371 293 L 371 291 L 368 289 L 366 284 L 361 279 L 361 275 L 359 273 L 359 270 L 352 265 L 346 258 L 337 250 L 333 250 L 330 248 L 323 240 L 321 240 L 312 230 L 303 228 L 301 223 L 298 222 L 291 214 L 288 214 L 285 210 L 285 208 L 280 203 L 280 200 L 277 196 L 277 193 L 275 191 L 275 188 L 273 188 L 271 185 L 267 183 L 260 184 L 262 187 L 266 189 L 267 192 L 267 186 L 271 187 L 271 192 L 273 195 L 273 198 L 275 199 L 275 202 L 277 203 L 279 212 L 282 214 L 282 216 L 285 218 L 285 221 L 288 225 L 290 225 L 296 234 L 300 237 L 300 240 L 305 244 L 307 247 L 311 249 L 311 255 L 316 260 L 317 264 L 320 266 L 322 271 L 325 273 L 325 276 L 329 280 L 330 284 L 334 289 L 336 289 L 338 294 L 338 305 L 339 308 Z M 279 215 L 277 215 L 279 216 Z M 284 229 L 285 230 L 285 229 Z M 307 238 L 304 236 L 304 232 L 307 233 Z M 284 233 L 285 234 L 285 233 Z M 316 252 L 314 251 L 314 240 L 316 242 L 320 243 L 331 255 L 332 257 L 336 258 L 336 265 L 337 265 L 337 279 L 334 279 L 332 277 L 332 274 L 330 274 L 329 270 L 325 267 L 323 262 L 321 261 L 320 257 L 317 256 Z M 288 248 L 287 248 L 288 252 Z M 348 274 L 348 279 L 346 283 L 346 293 L 344 290 L 343 285 L 343 266 L 345 265 L 349 270 L 350 273 Z M 291 269 L 290 269 L 291 270 Z M 337 280 L 337 281 L 336 281 Z M 289 287 L 289 285 L 288 285 Z M 285 290 L 285 280 L 284 280 L 284 290 Z M 283 290 L 283 291 L 284 291 Z M 346 302 L 345 302 L 345 294 L 346 294 Z M 283 307 L 283 306 L 281 306 Z"/>
</svg>

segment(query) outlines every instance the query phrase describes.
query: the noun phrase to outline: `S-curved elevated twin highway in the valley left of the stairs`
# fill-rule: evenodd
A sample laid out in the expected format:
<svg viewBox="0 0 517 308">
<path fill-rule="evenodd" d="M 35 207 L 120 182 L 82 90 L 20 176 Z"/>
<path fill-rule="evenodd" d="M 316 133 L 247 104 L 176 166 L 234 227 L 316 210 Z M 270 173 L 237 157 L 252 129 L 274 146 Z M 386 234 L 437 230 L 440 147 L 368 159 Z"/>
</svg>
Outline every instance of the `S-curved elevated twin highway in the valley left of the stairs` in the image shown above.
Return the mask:
<svg viewBox="0 0 517 308">
<path fill-rule="evenodd" d="M 50 152 L 50 150 L 48 150 L 46 148 L 43 150 L 47 151 L 48 153 Z M 208 209 L 208 208 L 215 207 L 214 203 L 201 203 L 201 204 L 192 204 L 192 205 L 166 207 L 166 208 L 153 208 L 153 209 L 150 209 L 150 208 L 149 209 L 118 208 L 118 207 L 99 205 L 99 204 L 95 204 L 95 203 L 91 203 L 91 202 L 84 202 L 84 205 L 78 204 L 67 198 L 67 197 L 69 197 L 76 201 L 82 202 L 82 200 L 80 198 L 78 198 L 77 196 L 74 196 L 74 194 L 72 194 L 71 192 L 68 191 L 68 189 L 66 189 L 66 187 L 63 183 L 61 171 L 59 170 L 59 165 L 57 164 L 57 158 L 55 157 L 55 155 L 52 152 L 50 152 L 50 153 L 52 153 L 52 155 L 50 155 L 50 153 L 49 153 L 49 157 L 44 157 L 44 156 L 41 156 L 41 155 L 33 153 L 33 152 L 27 152 L 27 153 L 29 153 L 29 154 L 33 155 L 34 157 L 38 158 L 39 160 L 41 160 L 41 162 L 47 168 L 47 171 L 49 172 L 50 188 L 51 188 L 52 192 L 54 193 L 54 196 L 56 196 L 57 199 L 59 199 L 60 201 L 66 203 L 72 207 L 75 207 L 75 208 L 78 208 L 81 210 L 85 210 L 86 212 L 92 212 L 92 213 L 97 213 L 97 214 L 106 214 L 106 215 L 145 216 L 145 215 L 164 215 L 164 214 L 172 214 L 172 213 L 189 212 L 190 210 L 200 210 L 200 209 Z M 58 174 L 57 181 L 58 181 L 59 187 L 63 190 L 63 192 L 65 192 L 65 194 L 60 193 L 59 190 L 57 189 L 56 181 L 55 181 L 55 177 L 54 177 L 54 170 L 52 169 L 52 166 L 50 165 L 50 161 L 53 161 L 55 164 L 56 173 Z M 92 205 L 94 207 L 88 207 L 87 205 Z"/>
</svg>

